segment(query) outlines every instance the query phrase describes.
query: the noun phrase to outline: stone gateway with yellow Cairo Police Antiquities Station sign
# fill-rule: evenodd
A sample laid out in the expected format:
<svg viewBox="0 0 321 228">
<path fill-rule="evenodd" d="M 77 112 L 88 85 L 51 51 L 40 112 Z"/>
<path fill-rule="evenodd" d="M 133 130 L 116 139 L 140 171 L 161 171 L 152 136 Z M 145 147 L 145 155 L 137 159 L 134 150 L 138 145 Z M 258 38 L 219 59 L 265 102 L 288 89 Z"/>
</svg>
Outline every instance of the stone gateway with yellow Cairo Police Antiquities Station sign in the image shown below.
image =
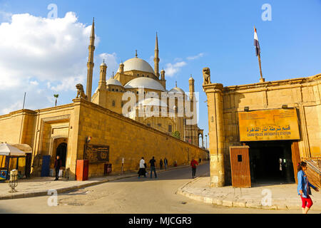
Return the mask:
<svg viewBox="0 0 321 228">
<path fill-rule="evenodd" d="M 212 187 L 231 184 L 233 146 L 249 147 L 250 177 L 256 183 L 294 182 L 297 162 L 320 159 L 321 74 L 227 87 L 204 81 L 203 90 Z"/>
</svg>

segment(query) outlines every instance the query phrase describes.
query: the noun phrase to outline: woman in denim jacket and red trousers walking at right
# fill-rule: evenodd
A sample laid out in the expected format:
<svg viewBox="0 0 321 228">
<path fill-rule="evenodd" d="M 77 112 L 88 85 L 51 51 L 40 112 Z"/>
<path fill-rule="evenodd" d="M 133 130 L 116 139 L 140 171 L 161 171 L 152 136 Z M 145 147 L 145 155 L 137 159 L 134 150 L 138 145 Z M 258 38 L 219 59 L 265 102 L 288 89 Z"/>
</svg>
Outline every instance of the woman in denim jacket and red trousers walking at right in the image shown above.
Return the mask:
<svg viewBox="0 0 321 228">
<path fill-rule="evenodd" d="M 307 180 L 307 175 L 305 174 L 305 170 L 307 170 L 306 162 L 299 162 L 297 170 L 297 194 L 300 195 L 302 199 L 302 214 L 307 214 L 307 211 L 313 204 L 309 196 L 311 195 L 310 187 L 316 192 L 319 192 L 319 190 Z"/>
</svg>

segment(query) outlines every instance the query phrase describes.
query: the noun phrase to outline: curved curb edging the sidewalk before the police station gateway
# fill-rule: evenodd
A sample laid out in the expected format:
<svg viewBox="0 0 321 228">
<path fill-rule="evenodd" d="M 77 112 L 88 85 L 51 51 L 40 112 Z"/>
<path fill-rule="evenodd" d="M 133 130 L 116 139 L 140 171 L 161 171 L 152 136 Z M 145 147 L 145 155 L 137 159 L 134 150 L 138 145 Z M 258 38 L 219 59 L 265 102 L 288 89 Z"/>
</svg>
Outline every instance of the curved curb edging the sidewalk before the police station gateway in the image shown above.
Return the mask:
<svg viewBox="0 0 321 228">
<path fill-rule="evenodd" d="M 234 201 L 230 199 L 218 199 L 213 197 L 205 197 L 202 195 L 196 195 L 192 192 L 183 190 L 184 187 L 190 185 L 190 183 L 198 180 L 199 177 L 191 180 L 187 184 L 179 187 L 175 194 L 183 195 L 198 202 L 205 202 L 206 204 L 220 205 L 225 207 L 245 207 L 256 209 L 300 209 L 300 203 L 297 204 L 272 204 L 271 206 L 263 206 L 261 202 L 246 202 L 246 201 Z M 321 210 L 321 207 L 312 207 L 313 210 Z"/>
</svg>

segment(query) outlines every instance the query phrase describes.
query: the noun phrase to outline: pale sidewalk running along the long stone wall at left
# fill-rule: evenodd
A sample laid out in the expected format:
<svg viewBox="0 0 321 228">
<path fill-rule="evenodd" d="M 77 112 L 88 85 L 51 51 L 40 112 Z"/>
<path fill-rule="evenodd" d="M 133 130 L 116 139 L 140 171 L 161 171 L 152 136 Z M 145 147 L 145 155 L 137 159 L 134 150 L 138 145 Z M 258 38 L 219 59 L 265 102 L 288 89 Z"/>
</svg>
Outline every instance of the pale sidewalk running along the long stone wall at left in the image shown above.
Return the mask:
<svg viewBox="0 0 321 228">
<path fill-rule="evenodd" d="M 188 167 L 187 165 L 178 167 L 168 167 L 167 170 L 175 170 Z M 149 169 L 147 170 L 149 172 Z M 156 172 L 164 172 L 166 170 L 156 169 Z M 56 190 L 58 193 L 68 192 L 78 188 L 88 187 L 92 185 L 99 185 L 113 180 L 120 180 L 128 177 L 138 177 L 137 172 L 131 172 L 124 175 L 117 174 L 104 177 L 93 177 L 85 181 L 67 180 L 66 178 L 59 178 L 54 181 L 55 177 L 33 177 L 30 179 L 21 179 L 18 182 L 16 190 L 18 192 L 9 193 L 11 188 L 8 182 L 0 182 L 0 199 L 18 199 L 26 197 L 38 197 L 48 195 L 49 190 Z"/>
</svg>

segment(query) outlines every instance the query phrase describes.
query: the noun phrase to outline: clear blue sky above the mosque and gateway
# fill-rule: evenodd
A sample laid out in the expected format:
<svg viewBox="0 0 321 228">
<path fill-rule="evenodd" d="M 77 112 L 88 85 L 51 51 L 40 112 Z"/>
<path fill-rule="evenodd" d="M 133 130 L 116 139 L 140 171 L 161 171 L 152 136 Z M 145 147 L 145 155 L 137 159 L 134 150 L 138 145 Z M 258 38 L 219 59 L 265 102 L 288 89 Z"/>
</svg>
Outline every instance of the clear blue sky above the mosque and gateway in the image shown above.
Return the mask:
<svg viewBox="0 0 321 228">
<path fill-rule="evenodd" d="M 113 53 L 117 64 L 132 58 L 136 49 L 138 57 L 152 62 L 157 31 L 160 67 L 168 68 L 175 63 L 185 62 L 172 76 L 165 76 L 167 89 L 173 88 L 175 81 L 178 81 L 178 87 L 188 90 L 188 78 L 190 74 L 193 75 L 195 90 L 200 92 L 199 125 L 205 129 L 205 133 L 208 133 L 208 110 L 202 90 L 202 68 L 209 67 L 211 81 L 223 83 L 224 86 L 258 83 L 260 73 L 253 46 L 254 25 L 258 31 L 263 77 L 266 81 L 321 73 L 320 0 L 0 1 L 0 24 L 10 23 L 10 16 L 14 14 L 28 13 L 46 18 L 49 4 L 58 6 L 58 18 L 72 11 L 78 22 L 86 26 L 91 25 L 94 16 L 96 36 L 99 38 L 95 54 Z M 272 7 L 272 21 L 262 20 L 263 4 Z M 78 47 L 85 49 L 81 51 L 81 55 L 84 55 L 81 58 L 86 58 L 87 47 L 88 43 Z M 193 56 L 194 59 L 188 58 Z M 73 59 L 77 61 L 77 58 L 70 58 L 70 61 Z M 96 58 L 93 90 L 98 83 L 100 63 L 101 58 Z M 108 72 L 110 75 L 111 72 Z M 71 103 L 75 97 L 74 88 L 50 91 L 48 81 L 32 73 L 28 80 L 39 89 L 46 90 L 46 93 L 59 93 L 60 104 Z M 50 83 L 54 85 L 57 82 L 51 78 Z M 0 95 L 10 97 L 7 93 L 9 91 L 0 90 Z M 18 93 L 21 93 L 19 97 L 22 99 L 23 90 Z M 36 98 L 32 93 L 27 94 L 26 108 L 46 108 L 37 105 L 50 106 L 52 102 L 48 99 L 47 103 L 34 100 Z M 7 105 L 4 101 L 0 104 Z"/>
</svg>

